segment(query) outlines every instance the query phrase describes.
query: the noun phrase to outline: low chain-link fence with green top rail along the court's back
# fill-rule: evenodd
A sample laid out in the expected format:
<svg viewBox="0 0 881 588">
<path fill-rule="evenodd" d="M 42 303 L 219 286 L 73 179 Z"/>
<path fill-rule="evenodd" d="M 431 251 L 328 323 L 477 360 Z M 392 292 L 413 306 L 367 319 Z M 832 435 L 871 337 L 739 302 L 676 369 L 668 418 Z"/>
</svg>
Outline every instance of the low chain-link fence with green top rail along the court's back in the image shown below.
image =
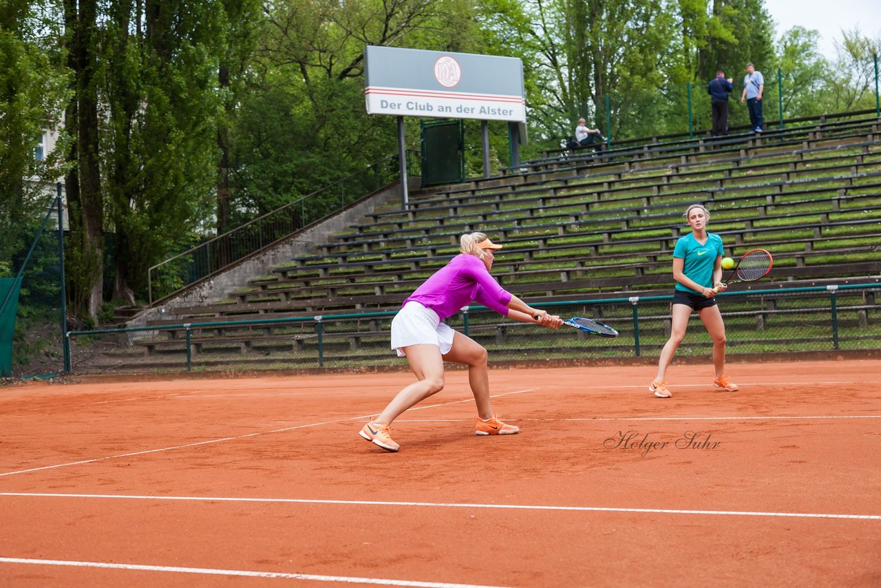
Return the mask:
<svg viewBox="0 0 881 588">
<path fill-rule="evenodd" d="M 728 354 L 881 349 L 881 279 L 840 287 L 724 293 Z M 504 361 L 626 360 L 657 357 L 670 337 L 671 296 L 538 303 L 552 314 L 611 324 L 617 339 L 561 327 L 552 331 L 473 307 L 448 324 Z M 192 323 L 70 333 L 74 372 L 174 373 L 405 366 L 389 350 L 394 311 L 262 321 Z M 712 341 L 692 318 L 677 357 L 708 357 Z"/>
</svg>

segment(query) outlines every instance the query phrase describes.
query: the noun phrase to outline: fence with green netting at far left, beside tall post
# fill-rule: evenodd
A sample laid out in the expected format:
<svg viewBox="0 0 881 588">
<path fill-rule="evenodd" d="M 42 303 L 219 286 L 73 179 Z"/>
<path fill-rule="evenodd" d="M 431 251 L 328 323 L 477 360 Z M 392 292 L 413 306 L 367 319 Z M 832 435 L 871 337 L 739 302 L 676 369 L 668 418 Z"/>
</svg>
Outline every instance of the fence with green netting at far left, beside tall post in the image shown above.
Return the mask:
<svg viewBox="0 0 881 588">
<path fill-rule="evenodd" d="M 21 219 L 4 234 L 11 256 L 0 263 L 0 376 L 63 373 L 61 197 L 40 218 Z"/>
</svg>

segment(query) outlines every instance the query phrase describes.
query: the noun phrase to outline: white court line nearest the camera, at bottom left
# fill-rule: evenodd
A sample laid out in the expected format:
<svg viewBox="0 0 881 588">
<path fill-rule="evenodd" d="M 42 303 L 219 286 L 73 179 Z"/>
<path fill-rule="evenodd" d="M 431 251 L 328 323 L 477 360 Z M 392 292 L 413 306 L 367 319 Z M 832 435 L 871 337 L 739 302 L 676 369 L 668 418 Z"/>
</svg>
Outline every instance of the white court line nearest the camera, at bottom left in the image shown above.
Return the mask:
<svg viewBox="0 0 881 588">
<path fill-rule="evenodd" d="M 448 584 L 446 582 L 419 582 L 418 580 L 389 580 L 378 577 L 318 576 L 315 574 L 285 574 L 275 571 L 250 571 L 247 569 L 180 568 L 176 566 L 149 566 L 136 563 L 70 562 L 65 560 L 34 560 L 20 557 L 0 557 L 0 563 L 30 565 L 73 566 L 76 568 L 137 569 L 141 571 L 166 571 L 184 574 L 211 574 L 213 576 L 283 577 L 292 580 L 315 582 L 344 582 L 347 584 L 381 584 L 385 586 L 418 586 L 420 588 L 501 588 L 483 584 Z"/>
</svg>

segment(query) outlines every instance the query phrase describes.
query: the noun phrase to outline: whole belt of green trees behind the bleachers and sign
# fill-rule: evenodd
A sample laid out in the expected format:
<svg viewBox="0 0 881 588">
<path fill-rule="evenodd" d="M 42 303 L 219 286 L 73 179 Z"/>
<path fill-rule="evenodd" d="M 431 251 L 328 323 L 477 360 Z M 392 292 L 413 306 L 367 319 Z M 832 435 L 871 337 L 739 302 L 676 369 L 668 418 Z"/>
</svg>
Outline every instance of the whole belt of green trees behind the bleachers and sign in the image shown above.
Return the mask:
<svg viewBox="0 0 881 588">
<path fill-rule="evenodd" d="M 66 175 L 69 292 L 94 316 L 102 294 L 143 299 L 170 253 L 396 153 L 394 117 L 364 108 L 367 45 L 521 58 L 528 157 L 580 116 L 613 140 L 706 129 L 717 69 L 735 79 L 730 124 L 745 123 L 747 62 L 769 121 L 779 98 L 787 116 L 872 108 L 881 42 L 844 32 L 832 60 L 817 42 L 800 27 L 775 41 L 762 0 L 5 0 L 0 230 Z M 35 161 L 63 108 L 59 149 Z M 480 123 L 464 126 L 478 175 Z M 492 166 L 507 165 L 507 124 L 489 129 Z M 418 120 L 405 130 L 418 145 Z"/>
</svg>

